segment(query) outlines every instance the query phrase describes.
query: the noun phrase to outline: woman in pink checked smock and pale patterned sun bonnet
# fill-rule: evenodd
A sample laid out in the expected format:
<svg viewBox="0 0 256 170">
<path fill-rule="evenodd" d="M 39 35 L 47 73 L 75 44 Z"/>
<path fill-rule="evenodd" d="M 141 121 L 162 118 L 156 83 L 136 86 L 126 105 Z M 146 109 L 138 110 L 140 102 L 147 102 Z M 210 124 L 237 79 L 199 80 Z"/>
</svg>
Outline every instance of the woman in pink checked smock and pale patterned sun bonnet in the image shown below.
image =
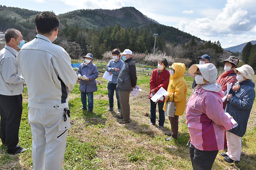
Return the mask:
<svg viewBox="0 0 256 170">
<path fill-rule="evenodd" d="M 224 149 L 224 133 L 233 127 L 222 108 L 224 92 L 216 83 L 217 69 L 211 64 L 194 64 L 188 70 L 197 87 L 187 102 L 186 123 L 190 133 L 193 169 L 211 170 L 219 150 Z"/>
</svg>

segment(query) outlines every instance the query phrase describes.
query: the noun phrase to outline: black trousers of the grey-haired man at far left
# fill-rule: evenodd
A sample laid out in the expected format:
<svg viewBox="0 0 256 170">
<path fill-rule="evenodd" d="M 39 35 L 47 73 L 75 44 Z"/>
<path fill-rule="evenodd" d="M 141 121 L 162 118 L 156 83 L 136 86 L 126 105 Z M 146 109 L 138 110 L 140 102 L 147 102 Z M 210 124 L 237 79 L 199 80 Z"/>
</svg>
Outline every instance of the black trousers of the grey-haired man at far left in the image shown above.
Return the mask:
<svg viewBox="0 0 256 170">
<path fill-rule="evenodd" d="M 0 138 L 7 146 L 7 152 L 16 151 L 20 146 L 19 129 L 22 115 L 22 96 L 0 95 Z"/>
</svg>

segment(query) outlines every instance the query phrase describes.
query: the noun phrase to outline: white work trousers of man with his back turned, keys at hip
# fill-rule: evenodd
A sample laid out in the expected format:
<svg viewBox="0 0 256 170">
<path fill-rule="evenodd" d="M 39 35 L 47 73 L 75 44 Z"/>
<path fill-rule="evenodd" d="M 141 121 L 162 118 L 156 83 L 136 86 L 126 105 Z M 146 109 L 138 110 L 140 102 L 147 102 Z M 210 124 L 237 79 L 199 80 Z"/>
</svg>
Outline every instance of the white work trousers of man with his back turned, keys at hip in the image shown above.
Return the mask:
<svg viewBox="0 0 256 170">
<path fill-rule="evenodd" d="M 32 131 L 33 170 L 61 170 L 70 120 L 64 122 L 64 109 L 28 110 Z"/>
</svg>

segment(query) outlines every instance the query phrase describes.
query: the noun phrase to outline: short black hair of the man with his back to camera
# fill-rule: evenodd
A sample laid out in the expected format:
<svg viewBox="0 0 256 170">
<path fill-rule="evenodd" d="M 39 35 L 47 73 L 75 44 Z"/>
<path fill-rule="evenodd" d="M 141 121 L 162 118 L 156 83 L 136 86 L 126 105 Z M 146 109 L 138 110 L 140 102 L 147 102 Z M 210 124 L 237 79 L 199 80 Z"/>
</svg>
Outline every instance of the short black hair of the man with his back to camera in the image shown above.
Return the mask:
<svg viewBox="0 0 256 170">
<path fill-rule="evenodd" d="M 37 32 L 41 34 L 50 34 L 60 26 L 60 19 L 52 11 L 44 11 L 38 14 L 35 19 Z"/>
</svg>

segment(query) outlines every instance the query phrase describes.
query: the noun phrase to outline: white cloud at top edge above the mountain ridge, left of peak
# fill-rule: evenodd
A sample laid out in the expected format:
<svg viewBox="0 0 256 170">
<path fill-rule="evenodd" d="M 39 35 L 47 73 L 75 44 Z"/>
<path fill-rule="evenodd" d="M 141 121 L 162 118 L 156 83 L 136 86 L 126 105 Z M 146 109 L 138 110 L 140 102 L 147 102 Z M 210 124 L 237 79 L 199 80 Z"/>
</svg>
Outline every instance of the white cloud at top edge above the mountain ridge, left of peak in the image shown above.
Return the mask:
<svg viewBox="0 0 256 170">
<path fill-rule="evenodd" d="M 77 9 L 117 9 L 124 6 L 123 0 L 61 0 Z"/>
</svg>

